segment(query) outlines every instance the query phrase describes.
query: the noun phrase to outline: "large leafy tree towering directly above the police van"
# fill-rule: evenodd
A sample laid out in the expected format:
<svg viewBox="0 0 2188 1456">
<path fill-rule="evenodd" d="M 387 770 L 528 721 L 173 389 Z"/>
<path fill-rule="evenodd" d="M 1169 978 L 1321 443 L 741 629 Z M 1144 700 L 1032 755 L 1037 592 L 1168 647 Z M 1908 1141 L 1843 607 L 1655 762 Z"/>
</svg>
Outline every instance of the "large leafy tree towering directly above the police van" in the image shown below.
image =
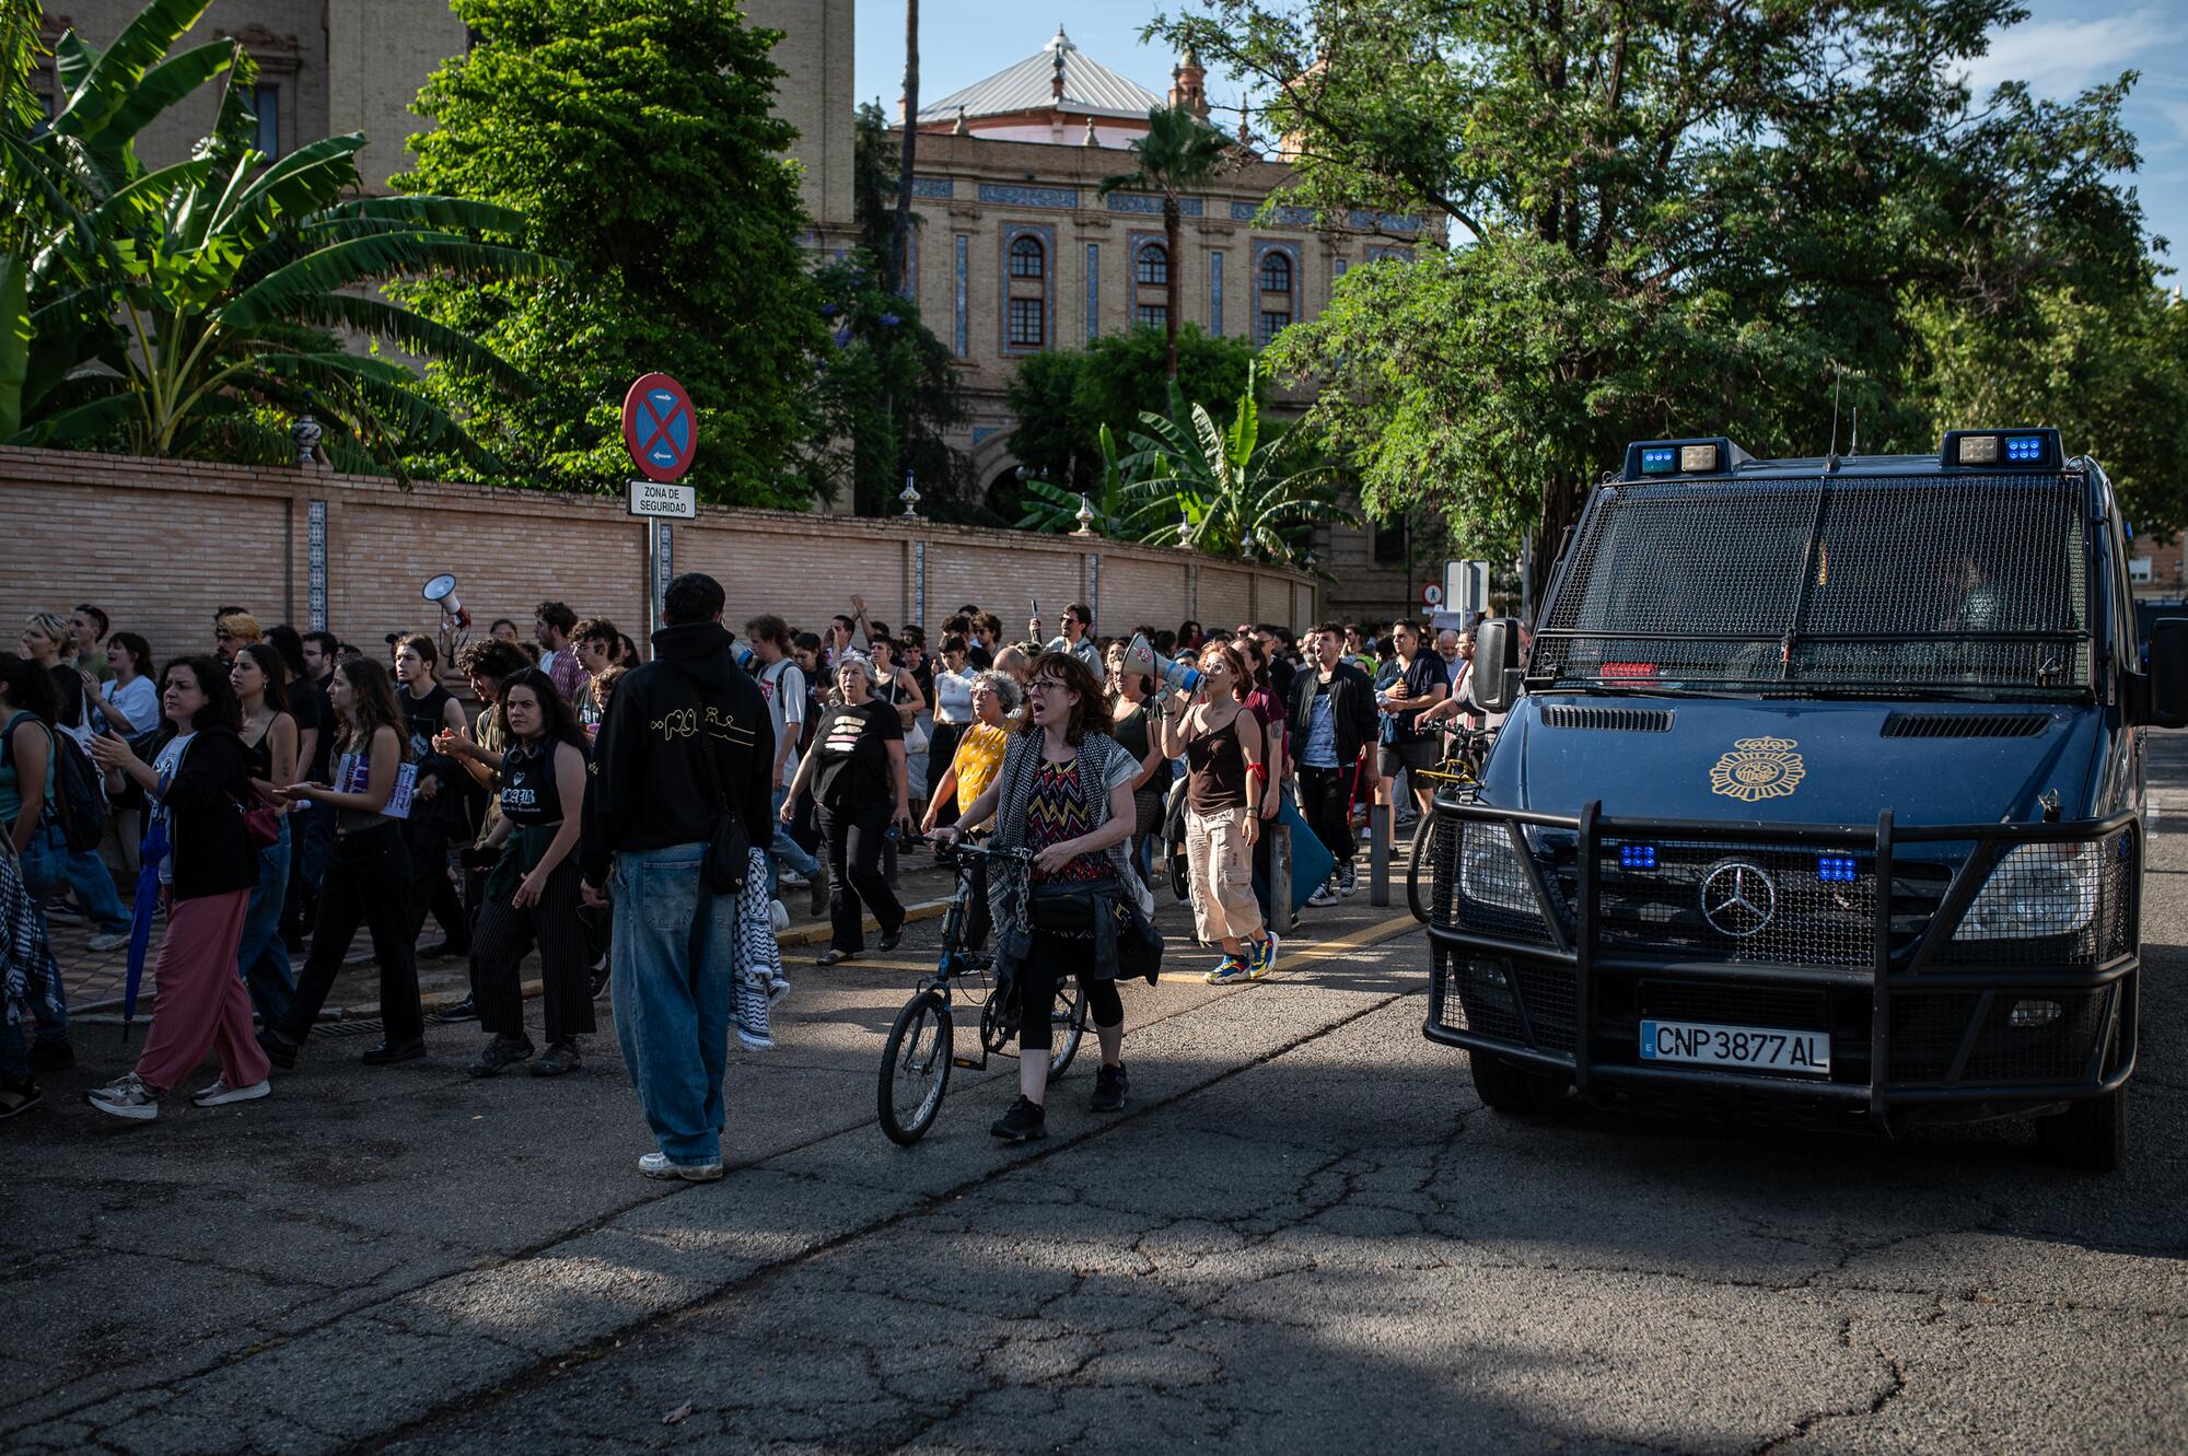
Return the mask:
<svg viewBox="0 0 2188 1456">
<path fill-rule="evenodd" d="M 2011 319 L 2149 282 L 2120 85 L 2037 103 L 1958 79 L 2013 0 L 1470 7 L 1212 0 L 1155 31 L 1258 87 L 1284 201 L 1416 212 L 1446 254 L 1346 275 L 1271 350 L 1374 514 L 1429 505 L 1547 571 L 1617 444 L 1934 448 L 1908 310 Z M 1308 63 L 1311 61 L 1311 63 Z"/>
</svg>

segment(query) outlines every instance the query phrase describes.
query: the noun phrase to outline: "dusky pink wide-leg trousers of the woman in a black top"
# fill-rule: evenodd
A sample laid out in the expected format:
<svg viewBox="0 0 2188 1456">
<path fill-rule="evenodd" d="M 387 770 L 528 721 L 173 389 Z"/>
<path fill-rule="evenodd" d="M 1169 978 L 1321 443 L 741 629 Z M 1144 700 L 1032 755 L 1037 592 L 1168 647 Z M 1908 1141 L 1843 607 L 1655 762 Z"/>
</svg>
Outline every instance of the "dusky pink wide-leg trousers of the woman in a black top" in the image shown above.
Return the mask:
<svg viewBox="0 0 2188 1456">
<path fill-rule="evenodd" d="M 153 1091 L 173 1091 L 208 1052 L 221 1056 L 221 1080 L 254 1087 L 267 1080 L 267 1054 L 252 1034 L 252 997 L 236 973 L 249 890 L 175 901 L 166 912 L 166 940 L 153 962 L 151 1030 L 138 1076 Z"/>
</svg>

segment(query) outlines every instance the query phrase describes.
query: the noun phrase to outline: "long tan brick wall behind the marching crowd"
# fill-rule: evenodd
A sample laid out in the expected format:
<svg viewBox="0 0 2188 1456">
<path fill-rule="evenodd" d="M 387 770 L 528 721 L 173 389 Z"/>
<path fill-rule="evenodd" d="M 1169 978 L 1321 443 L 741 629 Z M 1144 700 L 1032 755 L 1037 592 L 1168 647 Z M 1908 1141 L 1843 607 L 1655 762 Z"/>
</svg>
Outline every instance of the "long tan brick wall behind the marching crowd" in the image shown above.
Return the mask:
<svg viewBox="0 0 2188 1456">
<path fill-rule="evenodd" d="M 455 573 L 477 632 L 514 617 L 529 634 L 532 608 L 554 597 L 580 617 L 610 617 L 632 638 L 645 634 L 645 525 L 615 498 L 462 483 L 405 492 L 322 468 L 13 448 L 0 448 L 9 542 L 0 623 L 90 601 L 116 627 L 142 632 L 160 658 L 208 649 L 212 608 L 223 603 L 302 625 L 315 501 L 326 503 L 328 627 L 359 647 L 387 632 L 429 632 L 438 614 L 418 588 L 442 571 Z M 853 592 L 891 625 L 921 621 L 921 549 L 930 627 L 976 601 L 1017 634 L 1028 595 L 1050 632 L 1066 606 L 1087 599 L 1101 632 L 1140 621 L 1175 627 L 1186 617 L 1234 625 L 1247 603 L 1260 619 L 1304 625 L 1315 608 L 1315 584 L 1276 566 L 928 520 L 702 507 L 698 520 L 674 522 L 672 542 L 676 571 L 722 582 L 733 627 L 779 612 L 818 630 L 849 610 Z"/>
</svg>

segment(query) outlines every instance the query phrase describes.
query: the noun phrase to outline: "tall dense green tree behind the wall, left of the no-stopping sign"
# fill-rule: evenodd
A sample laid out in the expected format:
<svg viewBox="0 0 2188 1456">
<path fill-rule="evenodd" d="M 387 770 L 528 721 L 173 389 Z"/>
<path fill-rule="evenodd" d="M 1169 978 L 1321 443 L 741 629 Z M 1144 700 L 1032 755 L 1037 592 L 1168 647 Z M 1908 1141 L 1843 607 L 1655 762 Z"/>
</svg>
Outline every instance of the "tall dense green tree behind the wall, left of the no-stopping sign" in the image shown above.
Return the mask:
<svg viewBox="0 0 2188 1456">
<path fill-rule="evenodd" d="M 775 31 L 724 0 L 457 0 L 468 55 L 418 94 L 416 190 L 525 214 L 571 262 L 545 284 L 411 284 L 433 319 L 543 383 L 514 407 L 455 372 L 429 387 L 540 483 L 619 490 L 630 380 L 676 376 L 698 411 L 702 498 L 810 503 L 792 463 L 827 332 L 799 236 Z"/>
</svg>

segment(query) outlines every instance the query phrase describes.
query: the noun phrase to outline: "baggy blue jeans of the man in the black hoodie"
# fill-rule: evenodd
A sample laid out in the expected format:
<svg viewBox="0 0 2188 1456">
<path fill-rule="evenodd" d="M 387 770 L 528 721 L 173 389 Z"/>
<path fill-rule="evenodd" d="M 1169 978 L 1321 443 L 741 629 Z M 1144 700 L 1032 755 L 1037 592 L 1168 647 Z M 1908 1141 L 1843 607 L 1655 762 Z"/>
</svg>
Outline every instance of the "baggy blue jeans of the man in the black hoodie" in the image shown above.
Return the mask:
<svg viewBox="0 0 2188 1456">
<path fill-rule="evenodd" d="M 713 896 L 694 958 L 705 850 L 705 844 L 674 844 L 615 857 L 615 1041 L 645 1126 L 661 1152 L 683 1165 L 722 1161 L 729 1069 L 737 896 Z"/>
</svg>

